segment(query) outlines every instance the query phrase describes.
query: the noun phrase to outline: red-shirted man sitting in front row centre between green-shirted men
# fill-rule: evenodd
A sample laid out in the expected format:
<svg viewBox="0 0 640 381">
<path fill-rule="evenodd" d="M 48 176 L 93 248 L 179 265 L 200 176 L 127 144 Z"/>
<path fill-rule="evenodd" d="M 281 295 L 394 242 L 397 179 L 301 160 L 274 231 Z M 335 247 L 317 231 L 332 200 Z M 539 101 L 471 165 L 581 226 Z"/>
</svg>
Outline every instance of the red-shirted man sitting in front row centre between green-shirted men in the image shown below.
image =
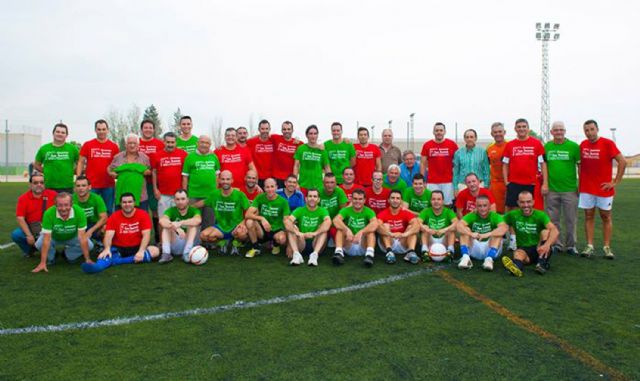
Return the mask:
<svg viewBox="0 0 640 381">
<path fill-rule="evenodd" d="M 387 254 L 388 264 L 396 263 L 396 254 L 404 254 L 404 260 L 417 264 L 420 260 L 415 252 L 420 223 L 416 216 L 402 207 L 402 193 L 392 190 L 389 207 L 378 214 L 378 246 Z"/>
</svg>

